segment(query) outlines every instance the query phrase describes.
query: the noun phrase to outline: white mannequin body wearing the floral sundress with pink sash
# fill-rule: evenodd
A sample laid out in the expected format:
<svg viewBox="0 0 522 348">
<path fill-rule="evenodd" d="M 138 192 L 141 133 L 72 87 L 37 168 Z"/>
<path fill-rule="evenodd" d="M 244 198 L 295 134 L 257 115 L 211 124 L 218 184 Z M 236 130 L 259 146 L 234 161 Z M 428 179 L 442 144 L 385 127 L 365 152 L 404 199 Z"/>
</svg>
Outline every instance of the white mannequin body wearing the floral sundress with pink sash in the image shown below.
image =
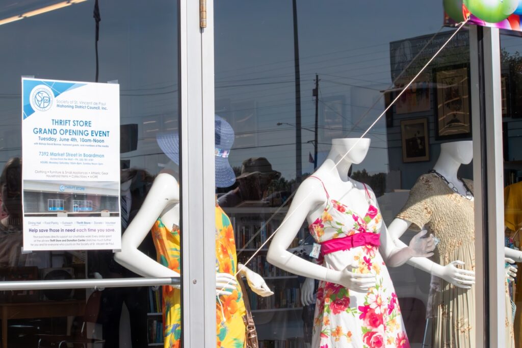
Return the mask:
<svg viewBox="0 0 522 348">
<path fill-rule="evenodd" d="M 314 173 L 314 176 L 321 179 L 325 184 L 328 192 L 335 192 L 336 200 L 348 202 L 351 207 L 357 207 L 358 212 L 363 212 L 369 203 L 367 202 L 364 185 L 351 180 L 348 177 L 348 170 L 352 164 L 362 162 L 369 148 L 370 139 L 368 138 L 334 139 L 328 157 Z M 376 205 L 373 192 L 371 192 L 371 195 L 372 204 Z M 295 193 L 287 216 L 275 234 L 274 240 L 270 243 L 267 261 L 294 274 L 340 284 L 356 292 L 366 292 L 375 284 L 375 276 L 373 274 L 350 272 L 354 266 L 351 264 L 354 260 L 347 260 L 347 267 L 344 270 L 333 270 L 302 259 L 287 251 L 303 221 L 307 219 L 309 224 L 312 223 L 312 216 L 323 211 L 326 201 L 326 193 L 321 182 L 313 178 L 303 181 Z M 392 266 L 401 265 L 412 256 L 420 254 L 431 256 L 431 251 L 434 248 L 433 239 L 431 236 L 421 238 L 424 234 L 425 231 L 421 231 L 412 239 L 409 247 L 399 249 L 388 234 L 386 226 L 382 224 L 379 251 L 381 251 L 385 262 Z M 306 282 L 313 283 L 311 280 Z M 307 295 L 306 297 L 310 296 Z"/>
</svg>

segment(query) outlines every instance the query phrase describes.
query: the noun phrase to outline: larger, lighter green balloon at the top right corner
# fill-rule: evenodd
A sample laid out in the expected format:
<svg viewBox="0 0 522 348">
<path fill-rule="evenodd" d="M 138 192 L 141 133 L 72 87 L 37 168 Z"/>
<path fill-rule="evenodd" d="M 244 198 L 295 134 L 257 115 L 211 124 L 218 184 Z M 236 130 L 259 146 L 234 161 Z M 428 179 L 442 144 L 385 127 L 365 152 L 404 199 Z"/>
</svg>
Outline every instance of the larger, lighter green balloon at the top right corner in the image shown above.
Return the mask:
<svg viewBox="0 0 522 348">
<path fill-rule="evenodd" d="M 464 4 L 476 17 L 497 23 L 515 12 L 519 0 L 464 0 Z"/>
</svg>

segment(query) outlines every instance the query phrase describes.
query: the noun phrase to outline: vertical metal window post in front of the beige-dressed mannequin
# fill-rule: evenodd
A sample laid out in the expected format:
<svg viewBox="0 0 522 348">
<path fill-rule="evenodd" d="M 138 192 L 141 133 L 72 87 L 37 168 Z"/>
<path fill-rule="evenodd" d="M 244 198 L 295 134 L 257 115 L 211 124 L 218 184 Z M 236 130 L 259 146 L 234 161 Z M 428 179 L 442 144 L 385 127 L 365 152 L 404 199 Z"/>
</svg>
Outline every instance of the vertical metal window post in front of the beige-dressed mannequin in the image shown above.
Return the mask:
<svg viewBox="0 0 522 348">
<path fill-rule="evenodd" d="M 470 63 L 477 275 L 476 346 L 504 347 L 504 168 L 499 29 L 470 27 Z"/>
</svg>

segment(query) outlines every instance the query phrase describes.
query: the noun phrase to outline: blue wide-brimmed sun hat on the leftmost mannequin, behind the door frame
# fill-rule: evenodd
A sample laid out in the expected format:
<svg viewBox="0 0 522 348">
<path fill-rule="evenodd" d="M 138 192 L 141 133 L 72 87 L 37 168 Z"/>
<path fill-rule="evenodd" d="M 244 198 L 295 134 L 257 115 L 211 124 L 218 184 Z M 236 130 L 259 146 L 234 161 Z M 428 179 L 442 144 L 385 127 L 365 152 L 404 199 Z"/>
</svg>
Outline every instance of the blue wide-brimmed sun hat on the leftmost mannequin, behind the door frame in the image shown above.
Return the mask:
<svg viewBox="0 0 522 348">
<path fill-rule="evenodd" d="M 216 163 L 216 187 L 230 187 L 235 182 L 235 174 L 230 167 L 228 156 L 234 143 L 234 130 L 232 126 L 215 115 L 214 139 L 215 139 L 215 163 Z M 156 135 L 156 141 L 163 153 L 175 164 L 180 164 L 180 136 L 178 133 L 163 132 Z"/>
</svg>

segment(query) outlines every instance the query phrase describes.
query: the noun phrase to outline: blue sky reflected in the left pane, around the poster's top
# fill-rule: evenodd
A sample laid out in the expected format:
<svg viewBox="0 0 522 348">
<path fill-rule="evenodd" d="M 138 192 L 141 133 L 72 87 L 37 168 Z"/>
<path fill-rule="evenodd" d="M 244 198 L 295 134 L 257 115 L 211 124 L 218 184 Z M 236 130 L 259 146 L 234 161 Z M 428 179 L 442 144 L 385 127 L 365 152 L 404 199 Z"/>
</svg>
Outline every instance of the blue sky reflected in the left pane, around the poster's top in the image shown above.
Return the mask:
<svg viewBox="0 0 522 348">
<path fill-rule="evenodd" d="M 57 1 L 2 3 L 1 18 Z M 0 26 L 0 162 L 19 156 L 20 76 L 94 81 L 94 2 Z M 138 150 L 123 154 L 151 172 L 164 163 L 156 132 L 177 129 L 177 5 L 100 2 L 100 82 L 118 80 L 121 123 L 138 123 Z M 147 154 L 148 156 L 142 156 Z"/>
</svg>

